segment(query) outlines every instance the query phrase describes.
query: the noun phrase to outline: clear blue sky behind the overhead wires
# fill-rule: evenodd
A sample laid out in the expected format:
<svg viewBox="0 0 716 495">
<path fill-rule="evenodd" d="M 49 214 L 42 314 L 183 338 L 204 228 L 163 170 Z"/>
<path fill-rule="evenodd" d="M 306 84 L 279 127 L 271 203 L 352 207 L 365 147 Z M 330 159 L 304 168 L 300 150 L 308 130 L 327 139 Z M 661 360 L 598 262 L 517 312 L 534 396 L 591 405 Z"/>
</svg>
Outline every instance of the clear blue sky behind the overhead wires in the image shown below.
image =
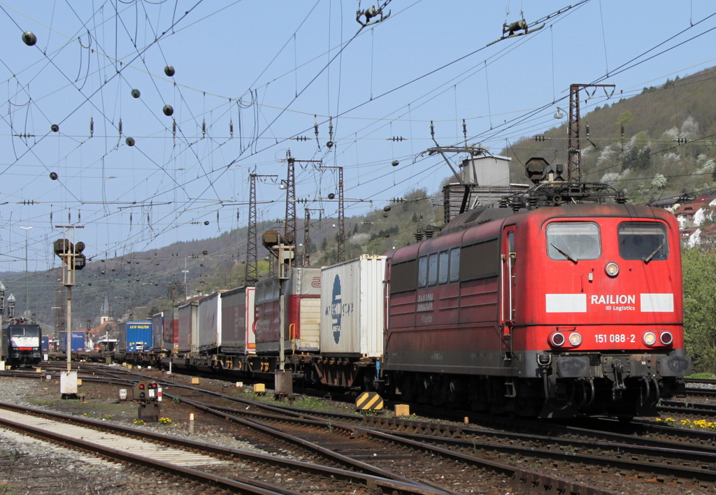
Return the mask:
<svg viewBox="0 0 716 495">
<path fill-rule="evenodd" d="M 0 271 L 24 270 L 25 236 L 30 270 L 59 266 L 57 225 L 84 226 L 75 240 L 95 259 L 245 226 L 253 170 L 278 176 L 258 183 L 259 220 L 281 219 L 289 148 L 343 167 L 347 216 L 435 193 L 450 170 L 420 155 L 434 145 L 430 121 L 440 145 L 464 142 L 465 119 L 468 143 L 498 152 L 553 127 L 571 83 L 614 84 L 616 100 L 715 64 L 707 0 L 586 1 L 489 47 L 505 19 L 567 2 L 392 0 L 388 19 L 360 29 L 356 11 L 370 5 L 0 1 Z M 296 196 L 311 202 L 298 216 L 334 216 L 337 173 L 302 165 Z"/>
</svg>

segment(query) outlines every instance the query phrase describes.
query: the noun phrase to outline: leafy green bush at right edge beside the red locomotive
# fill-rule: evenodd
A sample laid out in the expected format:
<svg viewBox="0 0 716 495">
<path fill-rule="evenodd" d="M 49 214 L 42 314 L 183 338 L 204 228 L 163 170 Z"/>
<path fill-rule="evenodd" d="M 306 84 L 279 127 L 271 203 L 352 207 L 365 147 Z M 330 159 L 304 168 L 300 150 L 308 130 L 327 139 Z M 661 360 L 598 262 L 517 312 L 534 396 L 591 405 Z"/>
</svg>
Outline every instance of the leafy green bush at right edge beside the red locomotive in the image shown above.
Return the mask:
<svg viewBox="0 0 716 495">
<path fill-rule="evenodd" d="M 684 343 L 695 372 L 716 372 L 716 252 L 682 254 Z"/>
</svg>

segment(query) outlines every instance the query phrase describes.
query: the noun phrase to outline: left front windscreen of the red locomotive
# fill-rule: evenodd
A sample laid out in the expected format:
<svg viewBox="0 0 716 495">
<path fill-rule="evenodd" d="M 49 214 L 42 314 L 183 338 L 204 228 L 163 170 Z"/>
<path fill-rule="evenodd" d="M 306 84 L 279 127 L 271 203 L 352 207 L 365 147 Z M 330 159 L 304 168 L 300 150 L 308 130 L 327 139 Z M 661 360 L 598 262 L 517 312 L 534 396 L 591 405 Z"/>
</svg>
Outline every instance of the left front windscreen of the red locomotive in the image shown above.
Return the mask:
<svg viewBox="0 0 716 495">
<path fill-rule="evenodd" d="M 601 257 L 599 226 L 591 222 L 555 222 L 547 226 L 547 254 L 551 259 L 581 259 Z"/>
</svg>

